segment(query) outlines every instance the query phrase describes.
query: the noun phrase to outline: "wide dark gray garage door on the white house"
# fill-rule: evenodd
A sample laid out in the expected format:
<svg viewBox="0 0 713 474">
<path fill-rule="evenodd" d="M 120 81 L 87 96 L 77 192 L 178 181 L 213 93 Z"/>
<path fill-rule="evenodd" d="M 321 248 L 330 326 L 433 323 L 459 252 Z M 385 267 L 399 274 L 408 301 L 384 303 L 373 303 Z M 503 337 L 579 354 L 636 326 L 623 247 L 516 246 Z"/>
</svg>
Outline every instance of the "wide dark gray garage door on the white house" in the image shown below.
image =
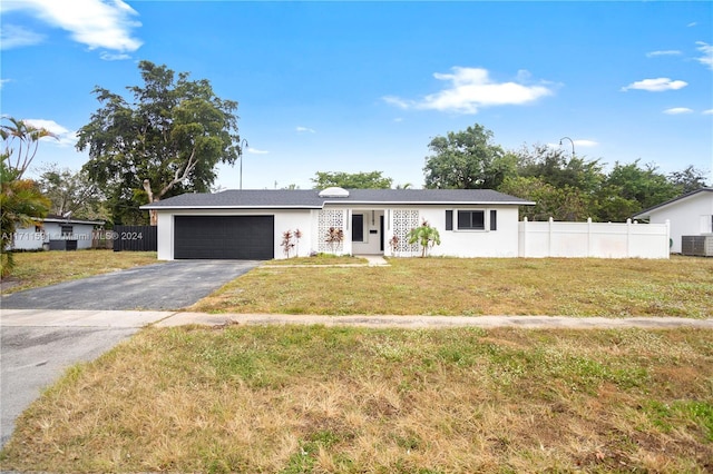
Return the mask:
<svg viewBox="0 0 713 474">
<path fill-rule="evenodd" d="M 174 258 L 274 258 L 274 216 L 176 216 Z"/>
</svg>

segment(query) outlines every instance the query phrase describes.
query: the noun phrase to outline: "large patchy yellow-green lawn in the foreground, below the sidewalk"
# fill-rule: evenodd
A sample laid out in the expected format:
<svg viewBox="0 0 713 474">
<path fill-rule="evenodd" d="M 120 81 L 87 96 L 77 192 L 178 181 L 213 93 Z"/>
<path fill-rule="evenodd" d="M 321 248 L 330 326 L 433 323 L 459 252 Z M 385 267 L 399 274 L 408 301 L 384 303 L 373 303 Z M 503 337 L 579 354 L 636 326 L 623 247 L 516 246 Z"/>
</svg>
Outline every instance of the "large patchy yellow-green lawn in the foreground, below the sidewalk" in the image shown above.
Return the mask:
<svg viewBox="0 0 713 474">
<path fill-rule="evenodd" d="M 18 421 L 2 468 L 710 472 L 710 330 L 147 329 Z"/>
</svg>

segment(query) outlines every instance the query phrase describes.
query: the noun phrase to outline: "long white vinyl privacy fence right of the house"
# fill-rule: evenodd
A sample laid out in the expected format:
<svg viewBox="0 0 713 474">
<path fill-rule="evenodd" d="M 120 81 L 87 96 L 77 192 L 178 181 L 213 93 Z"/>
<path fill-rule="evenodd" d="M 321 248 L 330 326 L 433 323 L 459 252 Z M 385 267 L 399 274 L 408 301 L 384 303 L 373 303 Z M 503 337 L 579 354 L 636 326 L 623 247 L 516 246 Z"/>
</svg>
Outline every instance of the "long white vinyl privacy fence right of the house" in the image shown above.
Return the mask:
<svg viewBox="0 0 713 474">
<path fill-rule="evenodd" d="M 668 258 L 666 224 L 519 223 L 520 257 Z"/>
</svg>

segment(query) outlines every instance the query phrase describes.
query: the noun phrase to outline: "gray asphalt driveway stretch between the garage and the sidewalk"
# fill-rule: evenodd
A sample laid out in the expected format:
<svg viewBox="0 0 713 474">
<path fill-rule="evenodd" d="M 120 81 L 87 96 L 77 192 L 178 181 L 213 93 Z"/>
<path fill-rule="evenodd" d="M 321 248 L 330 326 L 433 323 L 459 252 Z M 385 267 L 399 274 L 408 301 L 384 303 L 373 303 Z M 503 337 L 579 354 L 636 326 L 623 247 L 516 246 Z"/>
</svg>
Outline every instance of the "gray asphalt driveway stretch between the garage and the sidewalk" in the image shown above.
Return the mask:
<svg viewBox="0 0 713 474">
<path fill-rule="evenodd" d="M 13 293 L 2 297 L 2 307 L 180 309 L 257 265 L 256 260 L 174 260 Z"/>
</svg>

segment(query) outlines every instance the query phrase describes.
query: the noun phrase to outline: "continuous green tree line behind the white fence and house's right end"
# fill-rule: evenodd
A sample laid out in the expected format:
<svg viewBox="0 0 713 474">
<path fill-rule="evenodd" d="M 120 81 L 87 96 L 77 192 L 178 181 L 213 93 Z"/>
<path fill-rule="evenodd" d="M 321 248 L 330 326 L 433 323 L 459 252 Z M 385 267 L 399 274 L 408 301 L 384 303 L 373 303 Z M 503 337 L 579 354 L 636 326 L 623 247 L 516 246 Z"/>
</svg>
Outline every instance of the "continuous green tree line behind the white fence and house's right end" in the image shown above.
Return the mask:
<svg viewBox="0 0 713 474">
<path fill-rule="evenodd" d="M 688 166 L 668 176 L 654 165 L 615 162 L 568 155 L 544 145 L 502 151 L 492 132 L 476 124 L 429 144 L 426 186 L 489 188 L 533 200 L 520 217 L 534 220 L 623 221 L 636 213 L 706 186 L 704 172 Z"/>
</svg>

